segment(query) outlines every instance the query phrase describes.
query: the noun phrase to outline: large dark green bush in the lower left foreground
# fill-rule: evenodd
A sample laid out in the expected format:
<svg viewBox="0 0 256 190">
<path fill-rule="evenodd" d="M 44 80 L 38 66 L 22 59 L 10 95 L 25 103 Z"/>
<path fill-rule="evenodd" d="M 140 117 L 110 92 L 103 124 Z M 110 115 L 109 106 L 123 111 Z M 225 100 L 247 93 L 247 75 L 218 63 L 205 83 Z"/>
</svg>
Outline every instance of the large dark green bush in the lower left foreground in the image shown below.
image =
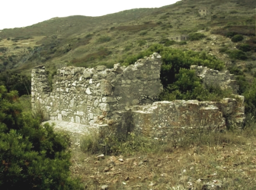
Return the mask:
<svg viewBox="0 0 256 190">
<path fill-rule="evenodd" d="M 66 135 L 22 112 L 17 92 L 0 86 L 0 189 L 80 189 L 68 146 Z"/>
</svg>

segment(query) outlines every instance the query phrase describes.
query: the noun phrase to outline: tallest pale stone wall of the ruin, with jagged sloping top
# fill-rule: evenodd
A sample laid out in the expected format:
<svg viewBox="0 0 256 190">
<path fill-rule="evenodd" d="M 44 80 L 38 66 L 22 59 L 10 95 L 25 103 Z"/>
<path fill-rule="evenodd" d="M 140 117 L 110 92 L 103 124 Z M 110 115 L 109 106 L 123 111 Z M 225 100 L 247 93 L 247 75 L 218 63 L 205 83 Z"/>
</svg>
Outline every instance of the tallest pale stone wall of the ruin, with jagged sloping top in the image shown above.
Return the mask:
<svg viewBox="0 0 256 190">
<path fill-rule="evenodd" d="M 116 110 L 153 103 L 162 90 L 158 53 L 134 65 L 114 69 L 65 67 L 57 71 L 50 92 L 45 68 L 32 70 L 32 109 L 46 119 L 94 125 Z"/>
</svg>

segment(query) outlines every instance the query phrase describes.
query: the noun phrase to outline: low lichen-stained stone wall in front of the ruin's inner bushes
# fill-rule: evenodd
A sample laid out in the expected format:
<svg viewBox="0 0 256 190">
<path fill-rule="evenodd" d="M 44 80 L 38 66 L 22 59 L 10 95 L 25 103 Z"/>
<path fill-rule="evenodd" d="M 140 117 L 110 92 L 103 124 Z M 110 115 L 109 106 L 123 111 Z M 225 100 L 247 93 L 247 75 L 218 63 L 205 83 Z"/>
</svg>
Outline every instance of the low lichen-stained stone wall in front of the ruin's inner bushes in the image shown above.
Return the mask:
<svg viewBox="0 0 256 190">
<path fill-rule="evenodd" d="M 147 106 L 134 106 L 134 131 L 154 138 L 165 138 L 173 131 L 205 129 L 220 131 L 244 122 L 244 96 L 224 98 L 220 102 L 175 100 L 154 102 Z"/>
</svg>

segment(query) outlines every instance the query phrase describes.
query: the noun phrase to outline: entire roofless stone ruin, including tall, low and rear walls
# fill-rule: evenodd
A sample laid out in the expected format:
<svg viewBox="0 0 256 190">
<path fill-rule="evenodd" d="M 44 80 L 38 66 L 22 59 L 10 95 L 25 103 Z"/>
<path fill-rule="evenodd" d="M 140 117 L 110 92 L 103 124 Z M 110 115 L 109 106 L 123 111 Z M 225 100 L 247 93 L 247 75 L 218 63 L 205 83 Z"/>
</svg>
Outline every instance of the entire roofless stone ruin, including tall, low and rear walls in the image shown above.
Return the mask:
<svg viewBox="0 0 256 190">
<path fill-rule="evenodd" d="M 225 129 L 231 122 L 243 124 L 243 96 L 224 98 L 220 102 L 157 102 L 163 90 L 160 58 L 158 53 L 154 53 L 127 67 L 115 64 L 113 69 L 105 66 L 92 69 L 64 67 L 57 71 L 52 87 L 49 86 L 45 67 L 33 68 L 32 110 L 40 110 L 46 120 L 83 124 L 80 127 L 88 131 L 108 131 L 115 125 L 121 134 L 134 131 L 153 138 L 162 138 L 174 129 L 214 131 Z M 215 81 L 221 87 L 227 87 L 234 83 L 226 71 L 197 66 L 191 69 L 195 69 L 206 84 Z"/>
</svg>

